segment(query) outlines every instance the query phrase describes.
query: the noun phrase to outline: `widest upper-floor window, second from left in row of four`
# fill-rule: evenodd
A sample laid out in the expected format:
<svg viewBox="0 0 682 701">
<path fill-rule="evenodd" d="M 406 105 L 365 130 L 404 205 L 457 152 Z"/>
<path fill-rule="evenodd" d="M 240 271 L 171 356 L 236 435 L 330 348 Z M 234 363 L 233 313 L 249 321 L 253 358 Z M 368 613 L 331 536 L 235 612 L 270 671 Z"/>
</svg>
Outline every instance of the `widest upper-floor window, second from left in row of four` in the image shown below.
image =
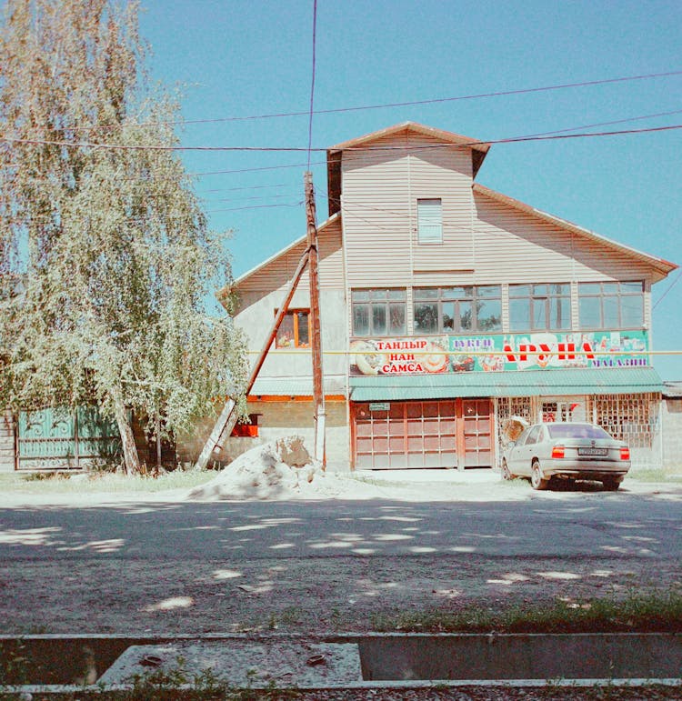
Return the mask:
<svg viewBox="0 0 682 701">
<path fill-rule="evenodd" d="M 502 330 L 500 285 L 416 287 L 415 335 Z"/>
</svg>

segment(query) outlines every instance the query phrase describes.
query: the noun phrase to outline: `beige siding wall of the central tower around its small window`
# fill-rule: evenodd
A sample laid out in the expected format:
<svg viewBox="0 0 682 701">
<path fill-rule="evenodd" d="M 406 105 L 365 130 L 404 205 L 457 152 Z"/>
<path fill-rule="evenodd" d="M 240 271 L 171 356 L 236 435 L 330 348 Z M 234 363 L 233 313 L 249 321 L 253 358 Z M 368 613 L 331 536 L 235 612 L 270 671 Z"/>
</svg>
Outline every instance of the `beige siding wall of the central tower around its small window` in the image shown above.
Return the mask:
<svg viewBox="0 0 682 701">
<path fill-rule="evenodd" d="M 341 212 L 349 287 L 410 285 L 413 274 L 428 285 L 431 274 L 470 271 L 471 155 L 467 148 L 439 143 L 404 132 L 344 152 Z M 386 151 L 371 150 L 379 147 Z M 443 243 L 417 245 L 416 200 L 433 197 L 443 202 Z"/>
</svg>

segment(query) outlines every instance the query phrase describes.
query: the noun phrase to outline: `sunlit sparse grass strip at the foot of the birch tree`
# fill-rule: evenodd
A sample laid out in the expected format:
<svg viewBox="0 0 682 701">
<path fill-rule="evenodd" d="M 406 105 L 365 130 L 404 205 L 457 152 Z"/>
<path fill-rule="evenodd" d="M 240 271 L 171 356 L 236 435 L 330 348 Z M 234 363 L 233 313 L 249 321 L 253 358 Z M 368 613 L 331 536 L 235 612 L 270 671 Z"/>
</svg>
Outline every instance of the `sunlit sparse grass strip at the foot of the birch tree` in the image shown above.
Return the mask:
<svg viewBox="0 0 682 701">
<path fill-rule="evenodd" d="M 216 476 L 214 470 L 175 470 L 158 477 L 124 476 L 101 472 L 9 473 L 0 475 L 3 494 L 153 494 L 169 489 L 191 489 Z M 38 475 L 42 475 L 38 477 Z"/>
</svg>

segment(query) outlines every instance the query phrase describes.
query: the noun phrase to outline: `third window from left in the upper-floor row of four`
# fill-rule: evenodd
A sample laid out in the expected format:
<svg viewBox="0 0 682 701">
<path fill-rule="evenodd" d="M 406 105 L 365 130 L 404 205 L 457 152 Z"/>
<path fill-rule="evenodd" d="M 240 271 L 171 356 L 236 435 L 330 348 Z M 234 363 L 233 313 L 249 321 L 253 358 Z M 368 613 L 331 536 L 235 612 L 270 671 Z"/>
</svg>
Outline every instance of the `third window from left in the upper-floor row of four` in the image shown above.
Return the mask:
<svg viewBox="0 0 682 701">
<path fill-rule="evenodd" d="M 571 327 L 571 285 L 509 285 L 510 331 L 562 331 Z"/>
</svg>

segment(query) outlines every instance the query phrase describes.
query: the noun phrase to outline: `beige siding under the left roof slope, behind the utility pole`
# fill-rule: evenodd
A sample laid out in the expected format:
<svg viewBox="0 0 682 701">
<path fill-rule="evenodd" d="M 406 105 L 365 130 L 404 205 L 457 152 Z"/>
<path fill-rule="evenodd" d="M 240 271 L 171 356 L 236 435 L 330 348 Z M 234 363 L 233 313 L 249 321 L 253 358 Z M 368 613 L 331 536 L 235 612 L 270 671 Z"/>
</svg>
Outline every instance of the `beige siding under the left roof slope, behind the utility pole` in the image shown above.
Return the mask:
<svg viewBox="0 0 682 701">
<path fill-rule="evenodd" d="M 344 256 L 341 248 L 341 222 L 336 220 L 319 232 L 320 288 L 343 288 Z M 295 245 L 284 255 L 280 255 L 263 267 L 256 275 L 251 275 L 239 285 L 240 292 L 272 291 L 286 289 L 296 272 L 301 256 L 306 250 L 306 243 Z M 305 272 L 298 284 L 307 288 L 308 274 Z"/>
</svg>

